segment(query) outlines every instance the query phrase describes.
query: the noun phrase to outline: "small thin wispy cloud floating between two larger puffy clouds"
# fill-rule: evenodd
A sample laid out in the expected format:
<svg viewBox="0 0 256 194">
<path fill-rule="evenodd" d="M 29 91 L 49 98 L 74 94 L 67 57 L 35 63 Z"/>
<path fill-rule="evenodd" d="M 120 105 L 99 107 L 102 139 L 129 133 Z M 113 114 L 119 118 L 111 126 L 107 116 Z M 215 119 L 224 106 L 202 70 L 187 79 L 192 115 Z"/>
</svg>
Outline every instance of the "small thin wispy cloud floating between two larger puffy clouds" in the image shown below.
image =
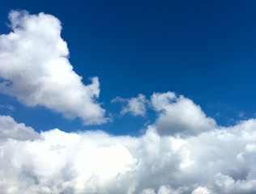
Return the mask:
<svg viewBox="0 0 256 194">
<path fill-rule="evenodd" d="M 116 98 L 111 100 L 112 103 L 117 102 L 127 102 L 126 107 L 122 108 L 121 115 L 125 115 L 126 113 L 130 112 L 132 116 L 145 116 L 146 114 L 146 103 L 147 99 L 145 95 L 139 94 L 136 98 L 131 99 L 122 99 L 121 97 L 117 96 Z"/>
</svg>

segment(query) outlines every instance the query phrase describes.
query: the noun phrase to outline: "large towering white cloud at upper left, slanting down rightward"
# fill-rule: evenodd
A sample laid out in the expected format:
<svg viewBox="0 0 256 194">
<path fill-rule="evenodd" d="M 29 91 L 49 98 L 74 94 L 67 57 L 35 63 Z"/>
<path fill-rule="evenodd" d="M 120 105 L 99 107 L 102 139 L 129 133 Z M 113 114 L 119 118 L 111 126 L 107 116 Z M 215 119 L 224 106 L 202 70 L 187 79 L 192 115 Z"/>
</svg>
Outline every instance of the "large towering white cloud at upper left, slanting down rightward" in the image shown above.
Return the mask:
<svg viewBox="0 0 256 194">
<path fill-rule="evenodd" d="M 60 36 L 62 26 L 53 15 L 9 14 L 13 32 L 0 36 L 0 90 L 28 106 L 41 105 L 84 124 L 103 124 L 105 110 L 96 103 L 98 78 L 83 85 L 68 61 Z"/>
</svg>

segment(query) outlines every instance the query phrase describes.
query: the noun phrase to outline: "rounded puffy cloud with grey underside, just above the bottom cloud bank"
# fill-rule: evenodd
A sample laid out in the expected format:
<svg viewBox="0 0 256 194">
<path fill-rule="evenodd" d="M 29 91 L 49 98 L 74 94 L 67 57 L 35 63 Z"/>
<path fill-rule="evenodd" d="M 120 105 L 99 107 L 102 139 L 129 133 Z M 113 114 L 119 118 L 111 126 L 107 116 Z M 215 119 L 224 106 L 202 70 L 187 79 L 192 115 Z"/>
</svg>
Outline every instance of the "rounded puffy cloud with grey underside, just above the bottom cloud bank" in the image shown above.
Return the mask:
<svg viewBox="0 0 256 194">
<path fill-rule="evenodd" d="M 195 135 L 215 128 L 215 120 L 207 117 L 202 109 L 183 95 L 173 92 L 154 93 L 151 104 L 159 117 L 156 120 L 158 132 L 163 135 Z"/>
</svg>

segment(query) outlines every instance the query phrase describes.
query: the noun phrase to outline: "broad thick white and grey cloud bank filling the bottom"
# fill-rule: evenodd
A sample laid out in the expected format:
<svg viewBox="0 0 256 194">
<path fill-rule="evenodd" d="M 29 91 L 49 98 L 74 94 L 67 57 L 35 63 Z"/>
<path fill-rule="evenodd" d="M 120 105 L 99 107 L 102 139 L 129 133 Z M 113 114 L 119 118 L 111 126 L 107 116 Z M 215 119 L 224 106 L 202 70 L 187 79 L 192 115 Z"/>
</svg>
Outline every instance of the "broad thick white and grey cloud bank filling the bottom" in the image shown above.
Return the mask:
<svg viewBox="0 0 256 194">
<path fill-rule="evenodd" d="M 34 132 L 10 116 L 0 118 L 1 134 L 7 128 L 17 134 Z M 190 137 L 160 136 L 155 127 L 149 126 L 141 137 L 59 129 L 28 136 L 26 141 L 2 136 L 1 192 L 256 192 L 256 120 Z"/>
</svg>

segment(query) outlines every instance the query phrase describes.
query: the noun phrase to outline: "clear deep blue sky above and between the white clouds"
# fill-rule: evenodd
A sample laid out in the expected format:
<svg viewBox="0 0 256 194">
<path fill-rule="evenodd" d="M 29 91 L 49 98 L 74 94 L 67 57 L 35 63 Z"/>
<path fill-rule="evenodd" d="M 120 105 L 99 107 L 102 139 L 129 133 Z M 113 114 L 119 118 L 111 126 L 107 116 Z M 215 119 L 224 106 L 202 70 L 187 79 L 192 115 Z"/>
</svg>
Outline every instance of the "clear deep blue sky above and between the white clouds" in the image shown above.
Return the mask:
<svg viewBox="0 0 256 194">
<path fill-rule="evenodd" d="M 45 108 L 27 108 L 0 94 L 0 108 L 37 130 L 104 129 L 134 134 L 147 117 L 118 117 L 116 96 L 175 91 L 193 99 L 220 125 L 255 117 L 255 1 L 18 1 L 0 0 L 0 32 L 11 9 L 41 11 L 62 21 L 70 63 L 83 82 L 98 76 L 99 102 L 113 123 L 83 126 Z M 244 117 L 239 113 L 244 112 Z"/>
</svg>

